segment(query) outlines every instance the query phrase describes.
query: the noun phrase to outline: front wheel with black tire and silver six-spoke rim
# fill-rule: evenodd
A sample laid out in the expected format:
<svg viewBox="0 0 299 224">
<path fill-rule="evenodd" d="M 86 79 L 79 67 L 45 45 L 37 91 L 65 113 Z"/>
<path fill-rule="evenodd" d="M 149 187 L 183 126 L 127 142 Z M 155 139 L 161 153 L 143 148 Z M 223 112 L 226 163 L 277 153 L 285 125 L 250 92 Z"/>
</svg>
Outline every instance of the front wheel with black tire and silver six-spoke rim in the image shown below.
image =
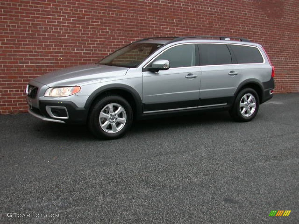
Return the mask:
<svg viewBox="0 0 299 224">
<path fill-rule="evenodd" d="M 90 111 L 88 126 L 100 139 L 117 139 L 129 131 L 133 122 L 130 104 L 120 96 L 102 98 Z"/>
</svg>

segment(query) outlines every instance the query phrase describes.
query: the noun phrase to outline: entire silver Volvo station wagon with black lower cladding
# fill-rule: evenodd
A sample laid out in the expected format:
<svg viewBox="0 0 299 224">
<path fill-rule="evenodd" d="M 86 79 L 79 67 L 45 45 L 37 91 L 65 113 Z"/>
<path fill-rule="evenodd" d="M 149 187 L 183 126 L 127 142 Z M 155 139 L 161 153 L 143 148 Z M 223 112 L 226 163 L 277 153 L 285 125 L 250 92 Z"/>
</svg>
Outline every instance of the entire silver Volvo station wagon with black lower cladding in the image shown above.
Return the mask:
<svg viewBox="0 0 299 224">
<path fill-rule="evenodd" d="M 30 114 L 87 123 L 101 139 L 123 136 L 135 119 L 173 113 L 227 110 L 247 122 L 273 92 L 274 67 L 261 45 L 215 36 L 142 39 L 26 88 Z"/>
</svg>

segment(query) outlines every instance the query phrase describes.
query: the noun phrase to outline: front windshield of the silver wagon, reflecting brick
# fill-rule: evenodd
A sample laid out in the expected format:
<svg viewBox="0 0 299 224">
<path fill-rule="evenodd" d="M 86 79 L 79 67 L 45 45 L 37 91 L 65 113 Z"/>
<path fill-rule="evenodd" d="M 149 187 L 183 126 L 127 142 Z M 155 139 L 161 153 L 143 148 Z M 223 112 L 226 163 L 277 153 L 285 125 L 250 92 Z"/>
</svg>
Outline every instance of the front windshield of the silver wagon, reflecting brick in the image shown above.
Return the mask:
<svg viewBox="0 0 299 224">
<path fill-rule="evenodd" d="M 133 43 L 115 51 L 97 64 L 135 68 L 162 45 Z"/>
</svg>

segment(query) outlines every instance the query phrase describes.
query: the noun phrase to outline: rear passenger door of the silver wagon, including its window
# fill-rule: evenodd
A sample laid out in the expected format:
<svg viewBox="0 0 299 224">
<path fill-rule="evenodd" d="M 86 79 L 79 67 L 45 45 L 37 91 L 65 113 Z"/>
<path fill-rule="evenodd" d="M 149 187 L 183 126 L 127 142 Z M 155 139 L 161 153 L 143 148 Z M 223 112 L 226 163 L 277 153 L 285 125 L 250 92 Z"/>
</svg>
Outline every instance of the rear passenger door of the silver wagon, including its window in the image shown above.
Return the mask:
<svg viewBox="0 0 299 224">
<path fill-rule="evenodd" d="M 201 43 L 198 46 L 202 71 L 199 107 L 230 104 L 242 70 L 232 64 L 231 52 L 226 44 Z"/>
</svg>

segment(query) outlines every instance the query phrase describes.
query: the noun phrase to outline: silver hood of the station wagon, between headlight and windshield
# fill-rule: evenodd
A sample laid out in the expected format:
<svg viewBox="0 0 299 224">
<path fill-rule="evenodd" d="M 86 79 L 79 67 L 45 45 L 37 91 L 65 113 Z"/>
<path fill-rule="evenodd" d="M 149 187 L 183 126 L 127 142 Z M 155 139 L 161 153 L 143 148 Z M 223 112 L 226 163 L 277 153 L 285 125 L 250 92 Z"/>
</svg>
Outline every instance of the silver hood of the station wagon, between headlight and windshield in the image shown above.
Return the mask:
<svg viewBox="0 0 299 224">
<path fill-rule="evenodd" d="M 39 76 L 34 80 L 47 85 L 48 87 L 72 86 L 99 79 L 124 76 L 128 69 L 129 68 L 126 67 L 97 64 L 80 65 L 56 70 L 54 72 Z"/>
</svg>

